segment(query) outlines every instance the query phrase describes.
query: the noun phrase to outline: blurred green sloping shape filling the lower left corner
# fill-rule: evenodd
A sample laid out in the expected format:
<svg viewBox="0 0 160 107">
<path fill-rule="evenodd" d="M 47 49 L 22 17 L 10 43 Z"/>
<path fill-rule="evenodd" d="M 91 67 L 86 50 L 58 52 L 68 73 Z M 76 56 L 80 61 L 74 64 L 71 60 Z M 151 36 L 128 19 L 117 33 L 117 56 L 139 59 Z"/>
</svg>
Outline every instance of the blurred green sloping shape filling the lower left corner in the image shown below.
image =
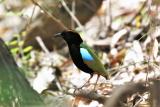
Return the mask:
<svg viewBox="0 0 160 107">
<path fill-rule="evenodd" d="M 46 107 L 0 39 L 0 107 Z"/>
</svg>

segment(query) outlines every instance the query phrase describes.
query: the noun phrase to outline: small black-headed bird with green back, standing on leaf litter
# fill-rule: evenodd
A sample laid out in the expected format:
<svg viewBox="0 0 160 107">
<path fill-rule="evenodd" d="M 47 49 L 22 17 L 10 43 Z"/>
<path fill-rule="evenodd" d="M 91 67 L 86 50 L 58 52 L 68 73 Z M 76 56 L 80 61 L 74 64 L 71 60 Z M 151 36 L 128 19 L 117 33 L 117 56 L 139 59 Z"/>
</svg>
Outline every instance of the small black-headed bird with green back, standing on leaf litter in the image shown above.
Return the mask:
<svg viewBox="0 0 160 107">
<path fill-rule="evenodd" d="M 77 32 L 73 30 L 65 30 L 55 34 L 55 37 L 61 37 L 66 41 L 71 59 L 73 60 L 73 63 L 76 65 L 76 67 L 85 73 L 90 74 L 90 78 L 83 86 L 85 86 L 90 81 L 94 74 L 98 75 L 94 90 L 100 75 L 106 79 L 109 78 L 109 73 L 98 58 L 95 50 L 89 47 Z"/>
</svg>

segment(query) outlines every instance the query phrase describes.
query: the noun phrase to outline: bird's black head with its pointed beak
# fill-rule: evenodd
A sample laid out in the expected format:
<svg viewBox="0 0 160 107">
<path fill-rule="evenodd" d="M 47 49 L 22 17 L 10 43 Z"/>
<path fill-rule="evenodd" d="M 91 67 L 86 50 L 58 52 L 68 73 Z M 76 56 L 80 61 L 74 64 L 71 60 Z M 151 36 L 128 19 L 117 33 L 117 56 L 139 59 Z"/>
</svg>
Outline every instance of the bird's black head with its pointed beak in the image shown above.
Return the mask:
<svg viewBox="0 0 160 107">
<path fill-rule="evenodd" d="M 68 44 L 80 45 L 83 40 L 77 32 L 68 30 L 55 34 L 56 37 L 62 37 Z"/>
</svg>

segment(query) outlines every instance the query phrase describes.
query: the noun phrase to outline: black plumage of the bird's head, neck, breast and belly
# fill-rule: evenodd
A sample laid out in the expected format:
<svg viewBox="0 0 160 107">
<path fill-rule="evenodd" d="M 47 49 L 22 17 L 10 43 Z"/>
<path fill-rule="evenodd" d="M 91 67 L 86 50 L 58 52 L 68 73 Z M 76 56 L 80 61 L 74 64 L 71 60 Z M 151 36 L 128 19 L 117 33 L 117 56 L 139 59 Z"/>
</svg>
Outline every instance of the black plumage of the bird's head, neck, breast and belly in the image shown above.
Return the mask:
<svg viewBox="0 0 160 107">
<path fill-rule="evenodd" d="M 80 54 L 80 44 L 83 42 L 83 40 L 78 35 L 78 33 L 73 31 L 67 31 L 67 32 L 63 31 L 60 35 L 64 38 L 64 40 L 68 44 L 70 56 L 74 64 L 80 70 L 89 73 L 91 76 L 93 76 L 94 71 L 83 62 L 82 56 Z"/>
</svg>

